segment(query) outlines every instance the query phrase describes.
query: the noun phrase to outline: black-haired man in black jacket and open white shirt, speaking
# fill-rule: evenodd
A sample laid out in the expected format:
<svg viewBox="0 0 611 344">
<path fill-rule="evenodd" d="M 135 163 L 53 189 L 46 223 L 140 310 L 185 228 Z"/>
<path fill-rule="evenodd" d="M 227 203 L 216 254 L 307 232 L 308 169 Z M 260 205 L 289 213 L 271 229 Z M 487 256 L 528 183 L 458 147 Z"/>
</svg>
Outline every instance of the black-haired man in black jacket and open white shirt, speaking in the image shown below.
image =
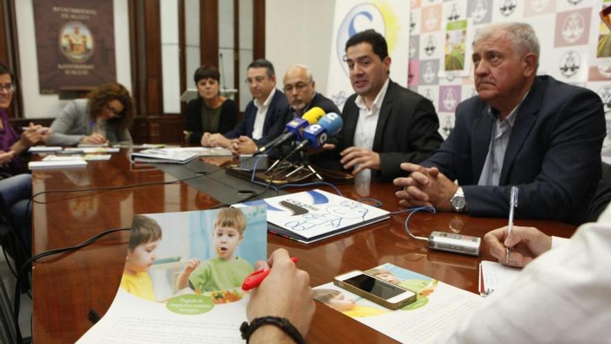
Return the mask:
<svg viewBox="0 0 611 344">
<path fill-rule="evenodd" d="M 346 42 L 346 63 L 355 94 L 342 111 L 340 163 L 352 174 L 372 171 L 378 181 L 399 177 L 405 173 L 402 162 L 424 161 L 442 142 L 435 108 L 390 81 L 386 40 L 376 31 L 356 33 Z"/>
</svg>

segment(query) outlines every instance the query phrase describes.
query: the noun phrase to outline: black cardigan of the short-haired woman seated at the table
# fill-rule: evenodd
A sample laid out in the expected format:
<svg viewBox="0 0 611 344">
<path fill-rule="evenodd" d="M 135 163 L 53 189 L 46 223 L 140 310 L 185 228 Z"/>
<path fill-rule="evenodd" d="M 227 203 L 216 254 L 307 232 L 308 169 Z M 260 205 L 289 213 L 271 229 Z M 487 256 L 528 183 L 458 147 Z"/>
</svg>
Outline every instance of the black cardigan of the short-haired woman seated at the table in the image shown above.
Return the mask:
<svg viewBox="0 0 611 344">
<path fill-rule="evenodd" d="M 197 143 L 201 141 L 201 136 L 203 132 L 201 131 L 201 106 L 203 104 L 203 99 L 201 97 L 197 97 L 196 99 L 192 99 L 187 103 L 185 107 L 185 124 L 187 131 L 191 131 L 191 136 L 189 137 L 189 142 L 187 143 Z M 221 114 L 219 115 L 219 128 L 218 133 L 224 134 L 227 131 L 230 131 L 235 126 L 237 122 L 237 105 L 235 101 L 231 99 L 227 99 L 221 105 Z"/>
</svg>

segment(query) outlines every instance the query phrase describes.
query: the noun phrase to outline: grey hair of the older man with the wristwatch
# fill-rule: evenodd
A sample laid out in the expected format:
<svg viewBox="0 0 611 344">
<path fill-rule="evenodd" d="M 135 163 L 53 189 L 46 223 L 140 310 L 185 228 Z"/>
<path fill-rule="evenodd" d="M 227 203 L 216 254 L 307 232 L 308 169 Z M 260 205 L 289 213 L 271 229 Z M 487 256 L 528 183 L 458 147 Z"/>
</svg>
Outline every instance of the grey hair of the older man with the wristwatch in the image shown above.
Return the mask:
<svg viewBox="0 0 611 344">
<path fill-rule="evenodd" d="M 520 55 L 535 54 L 537 56 L 537 66 L 539 66 L 539 39 L 530 24 L 517 22 L 489 24 L 475 33 L 473 44 L 490 38 L 498 34 L 499 31 L 505 34 L 505 38 L 512 42 L 512 46 L 517 49 L 517 53 Z"/>
</svg>

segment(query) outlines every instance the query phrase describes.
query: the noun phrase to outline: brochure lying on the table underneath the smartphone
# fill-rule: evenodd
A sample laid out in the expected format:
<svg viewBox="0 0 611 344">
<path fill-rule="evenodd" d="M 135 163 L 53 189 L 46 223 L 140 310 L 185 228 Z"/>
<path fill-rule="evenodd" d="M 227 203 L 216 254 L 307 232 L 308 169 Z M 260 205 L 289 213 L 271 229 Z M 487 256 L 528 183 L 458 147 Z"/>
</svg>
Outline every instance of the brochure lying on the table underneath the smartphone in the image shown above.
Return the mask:
<svg viewBox="0 0 611 344">
<path fill-rule="evenodd" d="M 417 293 L 412 304 L 392 311 L 330 282 L 314 288 L 315 300 L 401 343 L 432 343 L 448 326 L 472 313 L 482 297 L 385 263 L 365 273 Z"/>
</svg>

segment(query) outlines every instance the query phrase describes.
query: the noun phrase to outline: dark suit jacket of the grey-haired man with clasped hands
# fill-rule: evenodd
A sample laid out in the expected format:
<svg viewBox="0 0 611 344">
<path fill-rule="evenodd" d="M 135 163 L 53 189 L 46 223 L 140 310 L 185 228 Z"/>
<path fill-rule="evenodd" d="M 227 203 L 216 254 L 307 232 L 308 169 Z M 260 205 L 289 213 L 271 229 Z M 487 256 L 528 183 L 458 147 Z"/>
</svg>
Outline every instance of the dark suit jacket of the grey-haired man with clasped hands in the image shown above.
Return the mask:
<svg viewBox="0 0 611 344">
<path fill-rule="evenodd" d="M 516 216 L 583 222 L 601 179 L 605 115 L 599 96 L 537 76 L 518 110 L 499 186 L 477 186 L 494 123 L 487 108 L 478 97 L 460 103 L 449 138 L 422 165 L 458 179 L 471 215 L 507 216 L 516 185 Z"/>
</svg>

